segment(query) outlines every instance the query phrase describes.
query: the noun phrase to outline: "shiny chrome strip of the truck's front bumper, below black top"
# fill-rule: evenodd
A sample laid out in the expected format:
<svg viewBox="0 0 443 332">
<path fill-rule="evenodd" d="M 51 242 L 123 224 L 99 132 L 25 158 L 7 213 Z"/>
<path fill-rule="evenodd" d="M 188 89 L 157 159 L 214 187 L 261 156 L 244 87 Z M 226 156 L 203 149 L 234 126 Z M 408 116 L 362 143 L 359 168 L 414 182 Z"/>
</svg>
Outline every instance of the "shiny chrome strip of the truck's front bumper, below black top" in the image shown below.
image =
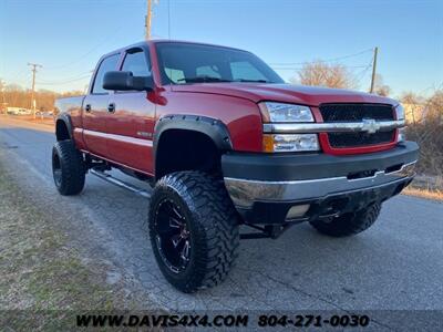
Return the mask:
<svg viewBox="0 0 443 332">
<path fill-rule="evenodd" d="M 237 208 L 251 208 L 255 201 L 296 201 L 330 195 L 382 187 L 412 179 L 416 160 L 400 169 L 380 170 L 370 177 L 349 179 L 347 176 L 305 180 L 262 181 L 225 177 L 225 185 Z"/>
</svg>

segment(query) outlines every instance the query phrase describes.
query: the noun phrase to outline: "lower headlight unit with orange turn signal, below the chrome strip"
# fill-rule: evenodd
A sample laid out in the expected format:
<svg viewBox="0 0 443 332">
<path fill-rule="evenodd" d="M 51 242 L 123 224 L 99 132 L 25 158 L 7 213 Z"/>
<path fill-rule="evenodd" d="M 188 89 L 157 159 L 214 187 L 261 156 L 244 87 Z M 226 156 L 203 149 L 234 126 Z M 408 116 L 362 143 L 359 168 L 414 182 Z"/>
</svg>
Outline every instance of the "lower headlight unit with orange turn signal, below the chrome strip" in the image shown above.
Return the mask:
<svg viewBox="0 0 443 332">
<path fill-rule="evenodd" d="M 264 152 L 319 151 L 317 134 L 264 135 Z"/>
</svg>

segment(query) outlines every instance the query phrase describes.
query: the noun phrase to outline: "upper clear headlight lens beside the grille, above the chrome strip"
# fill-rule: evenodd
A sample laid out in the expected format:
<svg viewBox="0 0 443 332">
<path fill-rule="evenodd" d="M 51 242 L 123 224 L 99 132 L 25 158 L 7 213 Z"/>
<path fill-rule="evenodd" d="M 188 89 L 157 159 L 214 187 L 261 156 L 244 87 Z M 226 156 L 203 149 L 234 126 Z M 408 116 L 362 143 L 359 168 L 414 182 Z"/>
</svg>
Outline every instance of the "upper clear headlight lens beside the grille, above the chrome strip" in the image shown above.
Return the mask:
<svg viewBox="0 0 443 332">
<path fill-rule="evenodd" d="M 264 122 L 313 122 L 308 106 L 264 102 L 259 103 Z"/>
</svg>

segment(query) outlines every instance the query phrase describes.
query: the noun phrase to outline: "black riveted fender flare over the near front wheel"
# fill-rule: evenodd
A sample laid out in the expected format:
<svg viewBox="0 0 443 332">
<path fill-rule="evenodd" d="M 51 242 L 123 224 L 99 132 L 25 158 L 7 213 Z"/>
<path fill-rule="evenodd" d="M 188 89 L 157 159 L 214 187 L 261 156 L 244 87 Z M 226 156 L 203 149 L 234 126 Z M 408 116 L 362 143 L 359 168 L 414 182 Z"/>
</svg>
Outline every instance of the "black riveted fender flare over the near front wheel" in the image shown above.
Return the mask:
<svg viewBox="0 0 443 332">
<path fill-rule="evenodd" d="M 208 136 L 219 151 L 225 152 L 233 149 L 229 131 L 220 120 L 202 115 L 169 114 L 158 118 L 154 128 L 154 165 L 156 163 L 157 147 L 161 136 L 168 129 L 198 132 Z"/>
</svg>

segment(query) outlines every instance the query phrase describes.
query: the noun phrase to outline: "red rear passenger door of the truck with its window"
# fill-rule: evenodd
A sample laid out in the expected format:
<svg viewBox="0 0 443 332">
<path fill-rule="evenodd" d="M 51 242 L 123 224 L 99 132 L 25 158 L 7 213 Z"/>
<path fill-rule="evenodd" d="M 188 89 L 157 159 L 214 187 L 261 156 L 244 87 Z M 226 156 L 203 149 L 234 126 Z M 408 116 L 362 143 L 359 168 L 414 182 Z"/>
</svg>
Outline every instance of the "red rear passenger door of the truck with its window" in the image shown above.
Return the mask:
<svg viewBox="0 0 443 332">
<path fill-rule="evenodd" d="M 117 69 L 120 53 L 109 55 L 100 62 L 90 90 L 83 102 L 83 138 L 87 151 L 101 157 L 109 157 L 106 139 L 107 105 L 113 92 L 103 89 L 103 76 Z"/>
</svg>

